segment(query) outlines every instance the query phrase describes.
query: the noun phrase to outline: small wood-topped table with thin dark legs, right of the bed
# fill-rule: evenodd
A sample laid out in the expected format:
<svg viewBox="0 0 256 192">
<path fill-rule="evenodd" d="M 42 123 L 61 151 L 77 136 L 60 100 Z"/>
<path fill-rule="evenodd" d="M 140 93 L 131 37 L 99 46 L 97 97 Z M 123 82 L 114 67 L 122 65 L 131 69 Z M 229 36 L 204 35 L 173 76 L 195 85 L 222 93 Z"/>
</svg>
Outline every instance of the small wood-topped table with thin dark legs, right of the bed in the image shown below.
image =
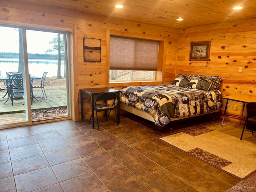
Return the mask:
<svg viewBox="0 0 256 192">
<path fill-rule="evenodd" d="M 256 101 L 256 96 L 252 96 L 252 95 L 236 95 L 236 96 L 234 96 L 233 95 L 233 96 L 224 96 L 223 99 L 226 99 L 227 102 L 226 102 L 226 106 L 225 106 L 225 110 L 224 110 L 224 114 L 223 114 L 223 119 L 222 119 L 222 123 L 221 123 L 221 127 L 220 127 L 220 132 L 222 131 L 222 126 L 223 126 L 224 118 L 225 118 L 225 115 L 226 115 L 226 111 L 227 111 L 228 107 L 232 104 L 232 102 L 236 101 L 236 102 L 243 103 L 242 114 L 241 114 L 241 118 L 240 118 L 240 125 L 241 125 L 245 104 L 248 103 L 248 102 L 251 102 L 251 101 Z M 229 101 L 231 101 L 231 103 L 228 106 Z"/>
</svg>

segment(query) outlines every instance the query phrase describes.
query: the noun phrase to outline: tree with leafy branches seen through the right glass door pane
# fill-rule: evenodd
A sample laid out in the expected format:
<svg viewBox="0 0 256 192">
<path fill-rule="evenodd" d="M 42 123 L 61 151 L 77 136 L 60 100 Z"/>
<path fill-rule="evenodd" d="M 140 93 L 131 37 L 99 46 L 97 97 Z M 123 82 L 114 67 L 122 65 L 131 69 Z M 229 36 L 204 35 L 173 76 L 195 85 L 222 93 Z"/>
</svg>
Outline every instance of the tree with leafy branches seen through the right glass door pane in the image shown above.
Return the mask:
<svg viewBox="0 0 256 192">
<path fill-rule="evenodd" d="M 57 78 L 62 78 L 60 74 L 60 68 L 61 68 L 61 60 L 65 60 L 65 51 L 64 51 L 64 40 L 63 40 L 63 34 L 59 34 L 55 37 L 52 41 L 49 42 L 50 44 L 53 44 L 51 49 L 46 50 L 45 53 L 50 53 L 53 51 L 58 51 L 58 70 L 57 70 Z M 56 58 L 57 59 L 57 58 Z"/>
</svg>

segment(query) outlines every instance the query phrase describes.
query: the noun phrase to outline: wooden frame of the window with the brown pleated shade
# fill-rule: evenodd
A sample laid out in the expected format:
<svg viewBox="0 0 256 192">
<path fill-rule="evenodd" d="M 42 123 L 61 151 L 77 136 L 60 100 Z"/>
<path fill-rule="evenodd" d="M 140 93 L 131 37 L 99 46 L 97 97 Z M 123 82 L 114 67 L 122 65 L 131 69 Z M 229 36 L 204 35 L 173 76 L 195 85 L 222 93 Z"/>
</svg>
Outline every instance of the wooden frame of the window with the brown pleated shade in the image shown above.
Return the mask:
<svg viewBox="0 0 256 192">
<path fill-rule="evenodd" d="M 115 81 L 110 82 L 109 80 L 109 72 L 110 72 L 110 36 L 121 36 L 124 38 L 138 38 L 144 40 L 154 40 L 159 41 L 158 48 L 158 66 L 155 71 L 155 80 L 133 80 L 133 81 Z M 129 85 L 138 85 L 140 84 L 161 84 L 163 82 L 163 74 L 164 74 L 164 65 L 165 65 L 165 55 L 166 52 L 166 43 L 167 38 L 162 36 L 150 35 L 150 34 L 134 34 L 132 32 L 122 32 L 116 30 L 107 30 L 106 31 L 106 86 L 114 87 L 114 86 L 125 86 Z"/>
</svg>

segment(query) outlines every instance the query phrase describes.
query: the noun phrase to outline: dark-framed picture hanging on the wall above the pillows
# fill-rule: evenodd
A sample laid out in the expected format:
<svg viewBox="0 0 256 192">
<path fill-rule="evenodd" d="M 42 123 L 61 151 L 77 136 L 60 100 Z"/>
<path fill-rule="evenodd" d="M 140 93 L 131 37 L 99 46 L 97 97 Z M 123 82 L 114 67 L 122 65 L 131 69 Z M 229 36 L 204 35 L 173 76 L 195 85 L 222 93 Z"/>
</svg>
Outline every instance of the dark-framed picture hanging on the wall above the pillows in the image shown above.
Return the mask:
<svg viewBox="0 0 256 192">
<path fill-rule="evenodd" d="M 211 41 L 190 42 L 189 60 L 209 60 Z"/>
</svg>

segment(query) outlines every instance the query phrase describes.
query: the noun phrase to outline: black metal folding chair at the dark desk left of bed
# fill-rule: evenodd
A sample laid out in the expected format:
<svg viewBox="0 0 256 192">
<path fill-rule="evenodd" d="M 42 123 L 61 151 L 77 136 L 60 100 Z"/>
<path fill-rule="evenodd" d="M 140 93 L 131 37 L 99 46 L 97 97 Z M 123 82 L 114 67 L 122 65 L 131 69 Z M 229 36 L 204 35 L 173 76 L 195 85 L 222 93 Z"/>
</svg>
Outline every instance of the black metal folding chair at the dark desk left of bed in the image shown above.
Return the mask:
<svg viewBox="0 0 256 192">
<path fill-rule="evenodd" d="M 99 94 L 95 100 L 95 104 L 94 104 L 94 110 L 96 111 L 96 118 L 97 118 L 97 124 L 98 124 L 98 129 L 99 129 L 99 120 L 98 120 L 98 112 L 101 112 L 101 111 L 104 111 L 104 112 L 107 112 L 109 111 L 108 113 L 108 116 L 106 116 L 105 118 L 108 119 L 109 118 L 109 115 L 110 115 L 110 112 L 112 110 L 115 110 L 115 116 L 116 117 L 116 125 L 118 126 L 117 124 L 117 115 L 116 115 L 116 93 L 114 92 L 104 92 L 102 94 Z M 108 104 L 107 102 L 111 102 L 112 104 Z M 104 102 L 104 103 L 102 103 Z M 89 123 L 91 121 L 91 118 L 92 118 L 92 115 L 90 117 L 90 120 L 89 120 Z"/>
</svg>

